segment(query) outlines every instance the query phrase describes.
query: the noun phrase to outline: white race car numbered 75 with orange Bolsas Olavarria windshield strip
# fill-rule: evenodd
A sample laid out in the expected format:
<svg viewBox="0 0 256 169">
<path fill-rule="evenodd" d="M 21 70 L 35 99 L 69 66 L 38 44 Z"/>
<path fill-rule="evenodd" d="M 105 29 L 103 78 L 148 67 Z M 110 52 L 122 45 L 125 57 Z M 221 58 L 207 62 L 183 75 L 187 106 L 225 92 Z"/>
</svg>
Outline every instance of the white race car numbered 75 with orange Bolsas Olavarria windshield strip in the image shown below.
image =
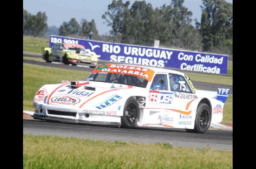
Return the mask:
<svg viewBox="0 0 256 169">
<path fill-rule="evenodd" d="M 183 128 L 204 133 L 221 122 L 217 92 L 196 91 L 179 71 L 139 65 L 101 64 L 85 81 L 44 85 L 35 95 L 35 119 L 132 128 Z"/>
</svg>

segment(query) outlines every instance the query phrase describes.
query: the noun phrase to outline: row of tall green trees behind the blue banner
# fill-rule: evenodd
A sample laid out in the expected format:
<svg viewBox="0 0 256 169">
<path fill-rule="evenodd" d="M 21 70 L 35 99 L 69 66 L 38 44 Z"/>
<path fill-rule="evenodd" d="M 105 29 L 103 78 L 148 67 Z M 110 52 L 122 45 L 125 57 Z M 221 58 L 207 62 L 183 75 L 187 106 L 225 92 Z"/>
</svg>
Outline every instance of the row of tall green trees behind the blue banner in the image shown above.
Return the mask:
<svg viewBox="0 0 256 169">
<path fill-rule="evenodd" d="M 112 0 L 102 19 L 111 27 L 109 38 L 114 42 L 147 46 L 149 41 L 160 40 L 162 47 L 233 54 L 233 5 L 225 0 L 202 2 L 201 20 L 195 19 L 195 26 L 192 25 L 193 13 L 183 5 L 184 0 L 171 0 L 170 4 L 155 9 L 145 1 L 135 1 L 130 5 L 130 1 Z M 46 20 L 45 12 L 33 16 L 23 9 L 23 34 L 43 35 L 47 31 Z M 37 32 L 31 23 L 37 24 Z M 110 41 L 106 35 L 98 35 L 94 19 L 91 22 L 81 19 L 79 24 L 71 18 L 59 29 L 56 26 L 51 29 L 60 36 L 88 37 L 93 31 L 97 40 Z"/>
</svg>

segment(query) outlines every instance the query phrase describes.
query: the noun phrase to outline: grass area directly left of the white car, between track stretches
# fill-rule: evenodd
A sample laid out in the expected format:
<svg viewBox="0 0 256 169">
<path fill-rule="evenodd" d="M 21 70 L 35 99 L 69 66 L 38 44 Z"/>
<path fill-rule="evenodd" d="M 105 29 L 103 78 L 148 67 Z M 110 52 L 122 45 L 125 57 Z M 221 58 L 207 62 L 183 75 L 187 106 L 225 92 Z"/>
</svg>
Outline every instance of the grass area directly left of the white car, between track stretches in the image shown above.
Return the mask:
<svg viewBox="0 0 256 169">
<path fill-rule="evenodd" d="M 23 63 L 23 110 L 34 111 L 33 99 L 45 84 L 61 83 L 61 80 L 84 80 L 89 72 L 49 68 Z"/>
</svg>

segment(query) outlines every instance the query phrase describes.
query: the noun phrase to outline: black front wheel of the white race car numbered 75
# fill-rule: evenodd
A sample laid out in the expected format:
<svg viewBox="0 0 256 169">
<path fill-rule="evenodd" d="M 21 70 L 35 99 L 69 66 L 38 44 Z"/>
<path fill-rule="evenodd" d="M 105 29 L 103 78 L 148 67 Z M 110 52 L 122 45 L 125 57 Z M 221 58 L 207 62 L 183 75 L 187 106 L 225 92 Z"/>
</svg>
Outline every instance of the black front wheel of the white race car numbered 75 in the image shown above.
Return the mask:
<svg viewBox="0 0 256 169">
<path fill-rule="evenodd" d="M 124 104 L 124 114 L 121 117 L 122 127 L 133 128 L 139 116 L 139 111 L 138 102 L 132 97 L 128 98 Z"/>
</svg>

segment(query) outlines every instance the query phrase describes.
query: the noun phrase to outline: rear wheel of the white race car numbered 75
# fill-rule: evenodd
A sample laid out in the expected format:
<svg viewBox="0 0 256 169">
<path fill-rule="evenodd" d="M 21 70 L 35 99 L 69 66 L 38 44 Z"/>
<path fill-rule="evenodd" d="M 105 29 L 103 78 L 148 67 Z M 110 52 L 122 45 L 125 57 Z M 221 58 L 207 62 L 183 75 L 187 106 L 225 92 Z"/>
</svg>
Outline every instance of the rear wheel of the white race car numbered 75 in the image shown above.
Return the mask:
<svg viewBox="0 0 256 169">
<path fill-rule="evenodd" d="M 200 103 L 196 109 L 194 132 L 205 133 L 210 127 L 211 120 L 212 113 L 210 107 L 205 103 Z"/>
</svg>

